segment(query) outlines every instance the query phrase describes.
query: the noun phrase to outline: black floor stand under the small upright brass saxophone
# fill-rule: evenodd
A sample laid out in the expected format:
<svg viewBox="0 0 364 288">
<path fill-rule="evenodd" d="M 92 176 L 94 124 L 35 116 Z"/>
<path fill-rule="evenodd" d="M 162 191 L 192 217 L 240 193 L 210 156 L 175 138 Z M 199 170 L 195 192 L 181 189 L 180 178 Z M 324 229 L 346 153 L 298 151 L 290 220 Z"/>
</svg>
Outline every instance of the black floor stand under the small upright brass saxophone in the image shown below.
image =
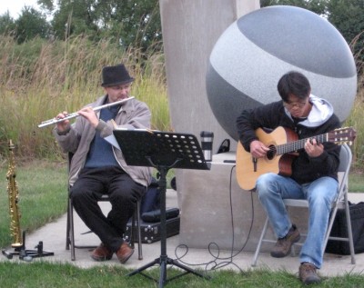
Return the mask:
<svg viewBox="0 0 364 288">
<path fill-rule="evenodd" d="M 8 252 L 4 249 L 2 252 L 7 259 L 13 259 L 13 256 L 19 256 L 20 260 L 24 260 L 26 262 L 31 262 L 33 258 L 53 256 L 55 254 L 53 252 L 44 251 L 42 241 L 39 241 L 35 248 L 36 250 L 25 249 L 25 231 L 23 231 L 23 243 L 20 246 L 15 246 L 15 251 Z"/>
</svg>

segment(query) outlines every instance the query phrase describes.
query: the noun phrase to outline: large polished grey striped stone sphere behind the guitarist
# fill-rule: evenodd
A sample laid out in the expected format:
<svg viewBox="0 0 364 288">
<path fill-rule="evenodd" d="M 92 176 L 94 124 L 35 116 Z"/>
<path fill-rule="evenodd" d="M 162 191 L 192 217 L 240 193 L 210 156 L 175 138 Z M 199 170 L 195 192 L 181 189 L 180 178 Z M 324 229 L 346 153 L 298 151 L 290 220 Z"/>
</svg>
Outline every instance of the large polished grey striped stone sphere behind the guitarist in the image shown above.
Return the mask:
<svg viewBox="0 0 364 288">
<path fill-rule="evenodd" d="M 219 37 L 207 67 L 207 97 L 218 123 L 238 140 L 243 109 L 280 100 L 279 78 L 305 74 L 340 121 L 350 113 L 357 72 L 349 45 L 327 20 L 306 9 L 269 6 L 244 15 Z"/>
</svg>

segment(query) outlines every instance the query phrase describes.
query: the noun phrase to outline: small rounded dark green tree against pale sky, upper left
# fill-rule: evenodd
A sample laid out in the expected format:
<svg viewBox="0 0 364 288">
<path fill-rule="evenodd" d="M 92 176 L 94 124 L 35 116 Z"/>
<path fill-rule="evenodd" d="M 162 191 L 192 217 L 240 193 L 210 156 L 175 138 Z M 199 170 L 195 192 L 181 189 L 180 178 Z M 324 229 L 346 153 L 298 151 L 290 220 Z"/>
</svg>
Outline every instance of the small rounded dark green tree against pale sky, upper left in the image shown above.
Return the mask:
<svg viewBox="0 0 364 288">
<path fill-rule="evenodd" d="M 33 7 L 25 7 L 15 20 L 15 37 L 19 44 L 27 39 L 39 36 L 47 38 L 50 32 L 50 25 L 46 21 L 45 15 L 37 12 Z"/>
</svg>

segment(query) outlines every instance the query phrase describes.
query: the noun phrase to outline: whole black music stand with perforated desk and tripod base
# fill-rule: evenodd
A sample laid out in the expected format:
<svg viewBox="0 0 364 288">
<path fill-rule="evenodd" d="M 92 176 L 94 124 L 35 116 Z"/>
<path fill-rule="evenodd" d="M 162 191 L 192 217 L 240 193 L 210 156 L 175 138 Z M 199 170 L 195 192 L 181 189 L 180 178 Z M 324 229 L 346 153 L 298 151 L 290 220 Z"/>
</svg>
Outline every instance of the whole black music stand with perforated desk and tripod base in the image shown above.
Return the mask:
<svg viewBox="0 0 364 288">
<path fill-rule="evenodd" d="M 166 176 L 170 168 L 208 170 L 201 147 L 193 134 L 177 134 L 150 130 L 115 130 L 116 141 L 123 151 L 126 164 L 134 166 L 149 166 L 159 173 L 158 189 L 160 194 L 160 256 L 151 263 L 128 273 L 128 276 L 141 273 L 148 279 L 156 279 L 142 273 L 147 268 L 159 264 L 159 288 L 165 283 L 187 273 L 209 279 L 209 276 L 197 273 L 191 268 L 178 263 L 167 256 L 166 228 Z M 167 279 L 167 264 L 175 265 L 183 270 L 176 276 Z"/>
</svg>

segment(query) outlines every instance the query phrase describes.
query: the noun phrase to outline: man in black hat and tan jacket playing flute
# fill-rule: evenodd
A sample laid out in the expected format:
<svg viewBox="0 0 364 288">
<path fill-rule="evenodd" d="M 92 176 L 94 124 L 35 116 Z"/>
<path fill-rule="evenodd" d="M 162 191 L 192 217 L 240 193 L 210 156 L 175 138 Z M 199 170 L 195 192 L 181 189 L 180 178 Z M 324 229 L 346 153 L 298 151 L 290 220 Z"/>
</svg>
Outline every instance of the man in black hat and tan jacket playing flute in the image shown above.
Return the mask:
<svg viewBox="0 0 364 288">
<path fill-rule="evenodd" d="M 112 120 L 125 128 L 150 128 L 147 104 L 134 98 L 98 112 L 93 110 L 128 98 L 134 80 L 123 64 L 104 67 L 101 85 L 105 95 L 78 111 L 75 124 L 65 120 L 56 123 L 53 130 L 61 149 L 74 154 L 68 175 L 70 197 L 76 213 L 101 240 L 91 253 L 95 261 L 110 260 L 116 253 L 119 262 L 126 263 L 134 253 L 123 241 L 123 233 L 151 179 L 148 167 L 126 165 L 122 151 L 104 139 L 113 133 Z M 66 115 L 65 111 L 56 118 Z M 107 215 L 97 204 L 101 194 L 109 195 L 111 211 Z"/>
</svg>

